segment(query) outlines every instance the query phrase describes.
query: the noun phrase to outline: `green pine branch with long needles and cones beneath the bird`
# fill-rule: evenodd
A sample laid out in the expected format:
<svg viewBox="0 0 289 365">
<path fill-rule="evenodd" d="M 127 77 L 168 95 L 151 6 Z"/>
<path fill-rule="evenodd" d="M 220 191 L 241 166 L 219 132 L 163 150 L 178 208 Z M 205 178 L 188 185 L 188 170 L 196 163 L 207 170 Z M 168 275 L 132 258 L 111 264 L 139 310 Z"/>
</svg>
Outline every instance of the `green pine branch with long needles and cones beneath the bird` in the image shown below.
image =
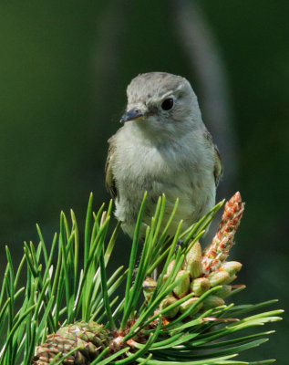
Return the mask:
<svg viewBox="0 0 289 365">
<path fill-rule="evenodd" d="M 49 249 L 37 226 L 39 244 L 25 243 L 16 270 L 6 247 L 7 265 L 0 287 L 0 365 L 274 362 L 239 360 L 240 352 L 263 344 L 274 332 L 242 331 L 277 321 L 283 312 L 263 309 L 276 300 L 255 305 L 231 302 L 232 295 L 244 288 L 232 283 L 242 264 L 228 261 L 243 214 L 240 193 L 225 204 L 218 232 L 203 252 L 201 235 L 223 202 L 189 229 L 182 230 L 180 222 L 174 237 L 168 239 L 178 201 L 160 232 L 166 204 L 163 195 L 140 242 L 145 203 L 146 194 L 129 266 L 120 266 L 109 277 L 107 266 L 113 249 L 118 251 L 114 246 L 120 224 L 108 235 L 112 203 L 107 211 L 102 205 L 95 214 L 92 195 L 83 242 L 71 211 L 70 222 L 60 214 L 59 234 Z M 160 266 L 154 280 L 152 273 Z"/>
</svg>

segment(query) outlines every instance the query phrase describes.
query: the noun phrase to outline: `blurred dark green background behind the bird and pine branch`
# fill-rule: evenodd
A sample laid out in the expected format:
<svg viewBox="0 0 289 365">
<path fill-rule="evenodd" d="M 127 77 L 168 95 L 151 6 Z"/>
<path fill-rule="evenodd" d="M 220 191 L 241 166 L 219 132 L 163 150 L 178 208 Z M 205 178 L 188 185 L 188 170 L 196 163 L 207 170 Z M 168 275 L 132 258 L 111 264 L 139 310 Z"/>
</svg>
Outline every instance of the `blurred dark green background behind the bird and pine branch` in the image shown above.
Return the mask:
<svg viewBox="0 0 289 365">
<path fill-rule="evenodd" d="M 126 86 L 161 70 L 189 78 L 199 96 L 225 164 L 219 198 L 239 190 L 246 202 L 232 257 L 247 289 L 234 300 L 287 307 L 288 16 L 285 0 L 2 1 L 1 267 L 5 244 L 17 259 L 36 241 L 36 223 L 49 241 L 61 209 L 81 224 L 91 191 L 95 208 L 108 202 L 107 140 Z M 115 265 L 129 245 L 121 235 Z M 287 326 L 274 325 L 250 358 L 287 363 Z"/>
</svg>

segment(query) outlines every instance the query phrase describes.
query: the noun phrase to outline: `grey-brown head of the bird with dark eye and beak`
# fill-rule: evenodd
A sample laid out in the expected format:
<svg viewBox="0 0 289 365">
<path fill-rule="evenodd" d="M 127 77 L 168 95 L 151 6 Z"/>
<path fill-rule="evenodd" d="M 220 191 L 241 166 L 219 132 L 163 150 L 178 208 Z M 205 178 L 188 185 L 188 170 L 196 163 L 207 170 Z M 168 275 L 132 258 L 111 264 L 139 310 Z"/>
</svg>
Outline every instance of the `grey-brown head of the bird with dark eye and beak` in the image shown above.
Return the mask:
<svg viewBox="0 0 289 365">
<path fill-rule="evenodd" d="M 176 135 L 202 125 L 197 97 L 190 82 L 181 76 L 140 74 L 131 80 L 127 96 L 127 109 L 120 122 L 133 121 L 149 134 Z"/>
</svg>

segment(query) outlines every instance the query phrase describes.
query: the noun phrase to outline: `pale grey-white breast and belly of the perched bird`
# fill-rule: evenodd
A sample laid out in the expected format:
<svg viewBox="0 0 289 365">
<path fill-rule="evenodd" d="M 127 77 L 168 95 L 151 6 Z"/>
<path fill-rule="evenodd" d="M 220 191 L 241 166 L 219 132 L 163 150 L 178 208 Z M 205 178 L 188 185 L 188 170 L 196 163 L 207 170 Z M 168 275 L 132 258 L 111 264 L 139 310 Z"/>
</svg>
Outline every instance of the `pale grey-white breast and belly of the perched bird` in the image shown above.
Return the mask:
<svg viewBox="0 0 289 365">
<path fill-rule="evenodd" d="M 160 229 L 167 224 L 179 198 L 169 235 L 176 232 L 181 220 L 183 229 L 186 229 L 201 219 L 215 203 L 213 167 L 206 165 L 205 153 L 198 155 L 195 149 L 182 153 L 171 148 L 160 151 L 150 142 L 144 144 L 137 136 L 131 139 L 125 130 L 119 136 L 116 149 L 113 165 L 118 190 L 115 215 L 130 236 L 146 191 L 148 197 L 142 217 L 144 227 L 150 225 L 162 193 L 166 197 L 166 208 Z"/>
</svg>

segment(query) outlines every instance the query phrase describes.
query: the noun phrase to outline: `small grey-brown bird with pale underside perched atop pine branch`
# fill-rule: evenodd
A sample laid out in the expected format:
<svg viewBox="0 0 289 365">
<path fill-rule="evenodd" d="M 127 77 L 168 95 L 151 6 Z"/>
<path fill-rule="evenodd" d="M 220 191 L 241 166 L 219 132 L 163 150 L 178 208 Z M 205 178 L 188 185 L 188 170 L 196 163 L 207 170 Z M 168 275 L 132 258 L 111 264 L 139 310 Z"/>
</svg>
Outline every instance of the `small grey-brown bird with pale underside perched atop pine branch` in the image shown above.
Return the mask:
<svg viewBox="0 0 289 365">
<path fill-rule="evenodd" d="M 106 187 L 115 201 L 114 214 L 132 237 L 147 192 L 143 236 L 159 197 L 165 194 L 166 199 L 160 229 L 179 199 L 167 231 L 173 236 L 181 220 L 185 230 L 214 206 L 222 176 L 220 153 L 186 78 L 167 72 L 139 74 L 129 83 L 127 99 L 122 127 L 108 140 Z"/>
</svg>

